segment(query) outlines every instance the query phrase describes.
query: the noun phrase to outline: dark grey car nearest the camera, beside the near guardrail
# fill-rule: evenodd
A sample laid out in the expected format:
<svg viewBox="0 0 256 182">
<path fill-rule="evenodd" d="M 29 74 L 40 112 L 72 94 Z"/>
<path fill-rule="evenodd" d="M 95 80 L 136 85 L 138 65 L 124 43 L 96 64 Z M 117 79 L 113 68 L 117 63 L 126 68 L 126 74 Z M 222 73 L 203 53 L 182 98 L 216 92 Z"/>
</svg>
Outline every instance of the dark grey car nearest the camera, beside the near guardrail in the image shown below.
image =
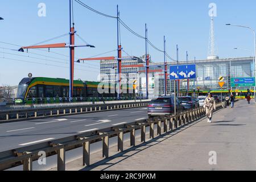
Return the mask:
<svg viewBox="0 0 256 182">
<path fill-rule="evenodd" d="M 179 113 L 183 111 L 184 106 L 180 105 L 178 99 L 176 99 L 176 111 Z M 174 113 L 174 96 L 161 96 L 154 100 L 151 100 L 148 104 L 148 116 L 156 115 L 170 115 Z"/>
</svg>

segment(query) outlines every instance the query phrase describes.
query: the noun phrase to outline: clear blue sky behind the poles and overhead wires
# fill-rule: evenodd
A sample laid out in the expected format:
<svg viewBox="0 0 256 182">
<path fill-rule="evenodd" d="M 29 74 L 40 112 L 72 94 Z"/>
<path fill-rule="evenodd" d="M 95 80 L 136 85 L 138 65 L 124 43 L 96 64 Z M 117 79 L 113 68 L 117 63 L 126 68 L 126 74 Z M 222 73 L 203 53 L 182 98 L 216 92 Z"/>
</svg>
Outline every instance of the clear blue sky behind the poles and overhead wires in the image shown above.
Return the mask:
<svg viewBox="0 0 256 182">
<path fill-rule="evenodd" d="M 176 59 L 176 44 L 179 44 L 179 58 L 205 59 L 208 53 L 210 18 L 209 3 L 216 3 L 215 37 L 220 57 L 251 56 L 253 34 L 245 28 L 228 27 L 225 23 L 243 24 L 256 28 L 256 2 L 254 0 L 81 0 L 101 11 L 115 16 L 119 5 L 121 19 L 134 31 L 144 36 L 144 23 L 148 25 L 148 38 L 155 46 L 163 49 L 163 36 L 167 38 L 167 52 Z M 38 16 L 38 4 L 46 4 L 46 17 Z M 90 57 L 116 49 L 116 20 L 89 11 L 74 2 L 75 28 L 86 42 L 96 48 L 77 48 L 76 57 Z M 29 46 L 43 40 L 69 32 L 68 0 L 10 0 L 1 2 L 0 42 Z M 68 36 L 49 43 L 69 42 Z M 137 38 L 121 27 L 123 49 L 134 56 L 144 54 L 144 40 Z M 83 42 L 76 38 L 77 44 Z M 234 47 L 250 49 L 234 50 Z M 68 49 L 50 49 L 50 52 L 29 50 L 19 53 L 9 49 L 18 46 L 0 43 L 0 85 L 18 85 L 28 73 L 33 76 L 68 78 Z M 163 53 L 149 49 L 152 60 L 163 61 Z M 63 55 L 57 55 L 57 52 Z M 37 53 L 37 55 L 35 54 Z M 13 55 L 15 54 L 15 55 Z M 111 52 L 103 56 L 116 56 Z M 125 53 L 123 53 L 125 55 Z M 46 60 L 47 59 L 47 60 Z M 27 62 L 25 62 L 27 61 Z M 39 63 L 39 64 L 35 64 Z M 55 65 L 55 66 L 52 66 Z M 100 73 L 98 61 L 76 64 L 75 79 L 97 80 Z"/>
</svg>

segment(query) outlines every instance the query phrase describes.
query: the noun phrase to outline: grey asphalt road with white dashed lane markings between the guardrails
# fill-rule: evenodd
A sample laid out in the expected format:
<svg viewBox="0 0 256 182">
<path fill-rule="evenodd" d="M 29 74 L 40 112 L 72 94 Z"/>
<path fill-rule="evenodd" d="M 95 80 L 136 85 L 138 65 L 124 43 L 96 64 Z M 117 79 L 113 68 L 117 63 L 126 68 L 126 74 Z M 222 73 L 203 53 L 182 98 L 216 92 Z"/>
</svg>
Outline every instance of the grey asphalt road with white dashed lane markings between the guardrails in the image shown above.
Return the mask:
<svg viewBox="0 0 256 182">
<path fill-rule="evenodd" d="M 0 151 L 146 119 L 147 107 L 0 124 Z"/>
</svg>

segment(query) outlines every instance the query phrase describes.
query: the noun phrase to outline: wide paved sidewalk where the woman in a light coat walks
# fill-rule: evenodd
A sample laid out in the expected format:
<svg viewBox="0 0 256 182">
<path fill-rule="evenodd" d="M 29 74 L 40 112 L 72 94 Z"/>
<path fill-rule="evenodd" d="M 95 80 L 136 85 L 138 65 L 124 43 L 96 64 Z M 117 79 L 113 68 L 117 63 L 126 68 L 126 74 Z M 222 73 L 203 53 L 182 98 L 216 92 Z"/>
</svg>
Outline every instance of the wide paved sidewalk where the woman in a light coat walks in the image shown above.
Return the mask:
<svg viewBox="0 0 256 182">
<path fill-rule="evenodd" d="M 112 147 L 110 156 L 118 157 L 102 160 L 97 152 L 91 162 L 101 162 L 85 168 L 80 158 L 67 163 L 66 170 L 255 170 L 255 111 L 254 101 L 241 100 L 233 109 L 217 111 L 213 123 L 202 119 L 122 153 Z M 209 164 L 210 151 L 217 154 L 216 165 Z"/>
</svg>

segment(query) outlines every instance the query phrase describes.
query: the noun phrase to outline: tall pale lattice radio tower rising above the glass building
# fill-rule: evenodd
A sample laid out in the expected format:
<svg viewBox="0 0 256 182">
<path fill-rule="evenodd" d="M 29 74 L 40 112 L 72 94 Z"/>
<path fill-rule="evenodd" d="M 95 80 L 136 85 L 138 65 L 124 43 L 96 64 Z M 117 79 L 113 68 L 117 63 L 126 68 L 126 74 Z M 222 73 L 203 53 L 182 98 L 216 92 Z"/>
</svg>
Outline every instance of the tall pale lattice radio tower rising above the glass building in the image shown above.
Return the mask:
<svg viewBox="0 0 256 182">
<path fill-rule="evenodd" d="M 214 21 L 213 16 L 210 17 L 210 38 L 209 38 L 209 46 L 208 46 L 208 57 L 207 59 L 218 59 L 215 40 L 214 40 Z"/>
</svg>

